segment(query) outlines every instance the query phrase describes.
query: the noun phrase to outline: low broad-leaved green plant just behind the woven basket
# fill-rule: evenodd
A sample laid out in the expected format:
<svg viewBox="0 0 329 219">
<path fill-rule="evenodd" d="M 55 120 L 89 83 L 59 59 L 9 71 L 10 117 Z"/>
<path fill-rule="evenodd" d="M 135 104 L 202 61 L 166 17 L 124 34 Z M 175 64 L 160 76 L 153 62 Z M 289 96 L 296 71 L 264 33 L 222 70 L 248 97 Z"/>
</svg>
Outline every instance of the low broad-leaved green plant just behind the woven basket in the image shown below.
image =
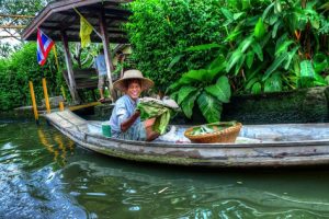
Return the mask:
<svg viewBox="0 0 329 219">
<path fill-rule="evenodd" d="M 190 70 L 172 85 L 168 92 L 181 105 L 186 117 L 191 118 L 195 102 L 208 123 L 220 120 L 223 103 L 230 99 L 230 87 L 225 74 L 226 62 L 223 56 L 206 69 Z"/>
</svg>

